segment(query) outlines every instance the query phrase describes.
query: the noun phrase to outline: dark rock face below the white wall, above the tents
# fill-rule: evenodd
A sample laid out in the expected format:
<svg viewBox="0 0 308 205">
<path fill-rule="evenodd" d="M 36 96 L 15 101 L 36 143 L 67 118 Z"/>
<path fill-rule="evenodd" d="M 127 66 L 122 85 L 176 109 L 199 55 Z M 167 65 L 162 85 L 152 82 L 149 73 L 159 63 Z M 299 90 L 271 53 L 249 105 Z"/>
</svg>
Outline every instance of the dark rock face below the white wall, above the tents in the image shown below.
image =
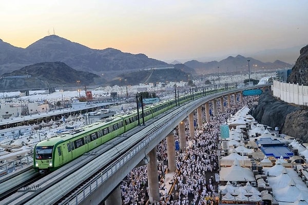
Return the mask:
<svg viewBox="0 0 308 205">
<path fill-rule="evenodd" d="M 281 133 L 308 142 L 308 110 L 278 100 L 270 92 L 259 96 L 259 104 L 252 112 L 263 125 L 278 127 Z"/>
</svg>

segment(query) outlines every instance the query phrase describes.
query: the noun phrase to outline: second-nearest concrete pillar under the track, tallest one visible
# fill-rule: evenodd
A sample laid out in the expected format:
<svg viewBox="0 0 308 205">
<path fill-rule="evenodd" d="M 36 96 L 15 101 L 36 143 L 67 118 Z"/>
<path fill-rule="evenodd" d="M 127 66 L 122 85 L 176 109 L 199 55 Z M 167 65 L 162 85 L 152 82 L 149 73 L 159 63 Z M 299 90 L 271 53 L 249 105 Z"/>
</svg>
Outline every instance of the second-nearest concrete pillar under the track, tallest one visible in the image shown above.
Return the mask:
<svg viewBox="0 0 308 205">
<path fill-rule="evenodd" d="M 160 200 L 156 147 L 148 153 L 148 156 L 150 161 L 146 168 L 148 172 L 149 201 L 150 203 L 155 203 Z"/>
</svg>

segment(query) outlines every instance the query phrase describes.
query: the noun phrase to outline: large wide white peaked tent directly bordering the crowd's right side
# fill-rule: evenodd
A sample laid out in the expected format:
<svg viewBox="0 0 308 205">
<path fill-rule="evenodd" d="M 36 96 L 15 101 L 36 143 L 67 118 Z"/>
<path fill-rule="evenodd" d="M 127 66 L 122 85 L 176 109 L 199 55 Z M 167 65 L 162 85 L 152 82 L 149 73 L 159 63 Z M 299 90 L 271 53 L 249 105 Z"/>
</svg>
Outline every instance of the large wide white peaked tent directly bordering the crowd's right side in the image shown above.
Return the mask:
<svg viewBox="0 0 308 205">
<path fill-rule="evenodd" d="M 248 168 L 239 166 L 238 159 L 234 160 L 234 165 L 221 168 L 220 181 L 255 181 L 253 172 Z"/>
</svg>

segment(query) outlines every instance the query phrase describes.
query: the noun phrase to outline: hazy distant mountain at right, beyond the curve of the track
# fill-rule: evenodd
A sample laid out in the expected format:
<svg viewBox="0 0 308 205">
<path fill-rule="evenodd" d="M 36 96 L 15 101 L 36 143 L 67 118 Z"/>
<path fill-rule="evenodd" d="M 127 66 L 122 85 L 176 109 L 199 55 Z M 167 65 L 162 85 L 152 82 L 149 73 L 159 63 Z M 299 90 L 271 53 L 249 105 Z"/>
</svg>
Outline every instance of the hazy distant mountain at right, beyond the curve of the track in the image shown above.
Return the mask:
<svg viewBox="0 0 308 205">
<path fill-rule="evenodd" d="M 250 72 L 265 71 L 265 70 L 278 70 L 290 68 L 292 65 L 284 63 L 280 60 L 276 60 L 274 63 L 263 63 L 260 60 L 252 57 L 244 57 L 237 55 L 236 57 L 229 56 L 221 61 L 199 62 L 197 60 L 190 60 L 184 63 L 184 65 L 195 69 L 198 74 L 209 73 L 230 73 L 230 72 L 248 72 L 248 61 Z"/>
</svg>

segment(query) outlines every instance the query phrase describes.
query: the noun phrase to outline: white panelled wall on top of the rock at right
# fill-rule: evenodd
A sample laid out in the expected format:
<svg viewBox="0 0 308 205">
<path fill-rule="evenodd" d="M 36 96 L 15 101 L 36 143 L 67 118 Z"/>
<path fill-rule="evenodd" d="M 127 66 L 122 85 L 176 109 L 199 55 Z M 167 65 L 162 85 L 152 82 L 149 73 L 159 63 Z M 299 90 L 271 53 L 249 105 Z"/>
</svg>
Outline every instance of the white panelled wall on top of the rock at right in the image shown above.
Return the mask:
<svg viewBox="0 0 308 205">
<path fill-rule="evenodd" d="M 281 83 L 274 80 L 272 86 L 273 95 L 286 103 L 295 105 L 308 105 L 308 86 Z"/>
</svg>

